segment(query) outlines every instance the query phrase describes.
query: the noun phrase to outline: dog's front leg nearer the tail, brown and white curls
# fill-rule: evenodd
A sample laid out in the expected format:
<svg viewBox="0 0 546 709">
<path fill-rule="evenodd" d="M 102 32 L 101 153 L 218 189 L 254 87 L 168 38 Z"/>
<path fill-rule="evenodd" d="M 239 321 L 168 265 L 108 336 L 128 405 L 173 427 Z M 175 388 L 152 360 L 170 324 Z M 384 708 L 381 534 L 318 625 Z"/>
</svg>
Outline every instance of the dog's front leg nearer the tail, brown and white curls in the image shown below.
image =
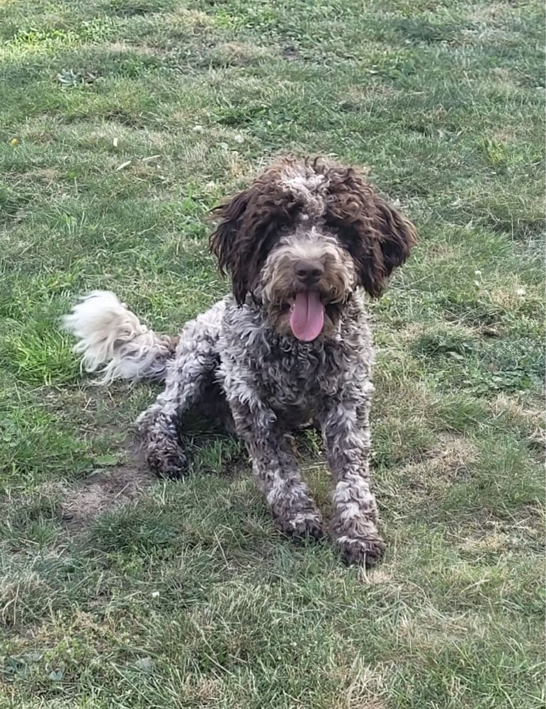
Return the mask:
<svg viewBox="0 0 546 709">
<path fill-rule="evenodd" d="M 290 441 L 279 430 L 267 406 L 249 406 L 239 398 L 229 402 L 237 434 L 252 460 L 258 488 L 266 496 L 281 532 L 291 537 L 322 537 L 322 516 L 297 470 Z"/>
</svg>

